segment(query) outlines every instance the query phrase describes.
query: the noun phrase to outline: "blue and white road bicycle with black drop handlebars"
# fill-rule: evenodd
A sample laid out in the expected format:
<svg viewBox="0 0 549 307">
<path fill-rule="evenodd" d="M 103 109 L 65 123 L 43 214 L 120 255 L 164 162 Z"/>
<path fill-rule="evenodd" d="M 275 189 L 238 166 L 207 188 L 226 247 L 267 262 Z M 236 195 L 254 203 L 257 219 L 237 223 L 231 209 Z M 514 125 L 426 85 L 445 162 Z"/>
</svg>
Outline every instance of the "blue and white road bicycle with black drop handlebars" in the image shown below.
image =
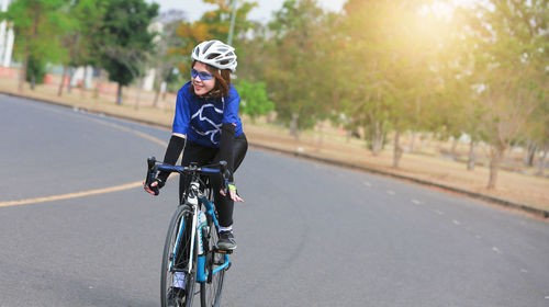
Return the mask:
<svg viewBox="0 0 549 307">
<path fill-rule="evenodd" d="M 178 172 L 190 177 L 184 197 L 173 214 L 163 253 L 160 302 L 163 307 L 191 307 L 200 292 L 202 307 L 220 306 L 225 272 L 231 268 L 232 251 L 217 250 L 219 223 L 213 204 L 213 191 L 204 175 L 220 174 L 226 189 L 226 162 L 199 167 L 176 167 L 147 159 L 149 184 L 158 171 Z M 195 284 L 200 291 L 194 292 Z"/>
</svg>

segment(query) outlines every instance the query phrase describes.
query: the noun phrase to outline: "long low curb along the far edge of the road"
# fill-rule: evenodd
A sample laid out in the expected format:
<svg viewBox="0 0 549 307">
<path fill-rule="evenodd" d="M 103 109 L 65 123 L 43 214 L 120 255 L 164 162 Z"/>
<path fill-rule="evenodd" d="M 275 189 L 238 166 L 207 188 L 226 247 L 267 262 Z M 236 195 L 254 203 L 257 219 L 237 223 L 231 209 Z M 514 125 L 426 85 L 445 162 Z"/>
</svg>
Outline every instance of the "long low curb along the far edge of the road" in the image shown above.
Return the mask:
<svg viewBox="0 0 549 307">
<path fill-rule="evenodd" d="M 125 115 L 105 113 L 105 112 L 101 112 L 101 111 L 97 111 L 97 110 L 89 110 L 86 107 L 79 107 L 79 106 L 74 106 L 74 105 L 71 106 L 71 105 L 59 103 L 59 102 L 56 102 L 53 100 L 30 98 L 30 96 L 10 93 L 10 92 L 3 92 L 3 91 L 0 91 L 0 93 L 9 95 L 9 96 L 16 96 L 16 98 L 23 98 L 23 99 L 31 99 L 34 101 L 41 101 L 41 102 L 45 102 L 48 104 L 54 104 L 54 105 L 63 106 L 63 107 L 67 107 L 67 109 L 77 109 L 77 110 L 81 110 L 81 111 L 85 111 L 85 112 L 91 113 L 91 114 L 104 114 L 105 116 L 109 116 L 109 117 L 130 121 L 130 122 L 139 123 L 139 124 L 145 124 L 145 125 L 149 125 L 149 126 L 154 126 L 154 127 L 168 128 L 168 129 L 170 128 L 169 125 L 163 125 L 163 124 L 158 124 L 155 122 L 134 118 L 134 117 L 125 116 Z M 461 195 L 466 195 L 466 196 L 469 196 L 472 198 L 482 200 L 482 201 L 490 202 L 490 203 L 493 203 L 496 205 L 501 205 L 501 206 L 504 206 L 507 208 L 518 209 L 518 211 L 531 214 L 531 215 L 539 217 L 539 218 L 544 218 L 544 219 L 549 218 L 549 211 L 530 207 L 528 205 L 514 203 L 511 201 L 506 201 L 506 200 L 502 200 L 502 198 L 497 198 L 497 197 L 493 197 L 493 196 L 489 196 L 489 195 L 484 195 L 484 194 L 480 194 L 480 193 L 474 193 L 471 191 L 467 191 L 467 190 L 462 190 L 462 189 L 458 189 L 458 187 L 453 187 L 453 186 L 449 186 L 449 185 L 445 185 L 445 184 L 439 184 L 439 183 L 435 183 L 435 182 L 423 180 L 423 179 L 396 174 L 396 173 L 392 173 L 392 172 L 388 172 L 388 171 L 377 170 L 373 168 L 361 167 L 361 166 L 357 166 L 357 164 L 352 164 L 352 163 L 347 163 L 344 161 L 321 158 L 321 157 L 316 157 L 316 156 L 312 156 L 312 155 L 307 155 L 307 154 L 303 154 L 303 152 L 299 152 L 299 151 L 294 151 L 294 150 L 287 150 L 287 149 L 270 147 L 270 146 L 261 145 L 261 144 L 249 143 L 249 145 L 251 147 L 255 147 L 255 148 L 274 151 L 274 152 L 279 152 L 279 154 L 283 154 L 283 155 L 288 155 L 288 156 L 304 158 L 304 159 L 309 159 L 312 161 L 324 162 L 324 163 L 336 166 L 336 167 L 344 167 L 344 168 L 359 170 L 359 171 L 363 171 L 363 172 L 382 174 L 382 175 L 386 175 L 386 177 L 391 177 L 391 178 L 395 178 L 395 179 L 400 179 L 400 180 L 411 181 L 411 182 L 418 183 L 418 184 L 426 185 L 426 186 L 435 186 L 435 187 L 439 187 L 439 189 L 442 189 L 446 191 L 450 191 L 450 192 L 455 192 L 455 193 L 458 193 Z"/>
</svg>

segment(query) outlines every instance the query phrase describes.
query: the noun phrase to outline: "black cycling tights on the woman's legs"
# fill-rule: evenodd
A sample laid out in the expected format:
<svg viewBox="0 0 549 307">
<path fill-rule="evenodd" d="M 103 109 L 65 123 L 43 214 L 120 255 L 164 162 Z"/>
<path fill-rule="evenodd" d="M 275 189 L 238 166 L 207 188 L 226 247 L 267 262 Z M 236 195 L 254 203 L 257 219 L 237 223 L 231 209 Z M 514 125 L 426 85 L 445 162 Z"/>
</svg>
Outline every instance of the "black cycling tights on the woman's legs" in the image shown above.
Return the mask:
<svg viewBox="0 0 549 307">
<path fill-rule="evenodd" d="M 248 150 L 248 141 L 246 140 L 246 136 L 244 134 L 239 135 L 235 138 L 233 143 L 233 159 L 234 159 L 234 171 L 238 169 L 244 157 L 246 156 L 246 151 Z M 210 148 L 198 145 L 192 141 L 187 141 L 187 146 L 183 151 L 183 159 L 181 164 L 183 167 L 188 167 L 191 162 L 197 162 L 199 166 L 215 163 L 220 161 L 220 149 L 219 148 Z M 184 187 L 189 184 L 190 179 L 186 175 L 181 175 L 179 179 L 179 200 L 181 201 L 183 197 Z M 214 191 L 214 201 L 215 207 L 217 208 L 217 214 L 220 218 L 220 225 L 222 227 L 228 227 L 233 225 L 233 209 L 235 203 L 231 197 L 223 196 L 220 194 L 221 190 L 221 179 L 219 175 L 211 177 L 210 182 L 212 183 L 212 187 Z"/>
</svg>

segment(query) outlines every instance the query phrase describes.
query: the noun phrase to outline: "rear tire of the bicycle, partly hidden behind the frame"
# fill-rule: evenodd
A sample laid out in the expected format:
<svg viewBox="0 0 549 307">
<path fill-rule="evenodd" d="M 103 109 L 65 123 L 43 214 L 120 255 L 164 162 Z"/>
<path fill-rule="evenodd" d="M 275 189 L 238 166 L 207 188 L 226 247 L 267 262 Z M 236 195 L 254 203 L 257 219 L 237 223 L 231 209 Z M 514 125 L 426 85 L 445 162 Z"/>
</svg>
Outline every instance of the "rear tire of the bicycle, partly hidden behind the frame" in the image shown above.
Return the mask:
<svg viewBox="0 0 549 307">
<path fill-rule="evenodd" d="M 209 225 L 210 234 L 208 240 L 208 254 L 206 254 L 206 269 L 212 272 L 225 262 L 225 255 L 214 252 L 215 245 L 217 243 L 217 229 L 211 223 Z M 221 302 L 221 293 L 223 291 L 223 282 L 225 280 L 225 269 L 219 271 L 211 277 L 211 282 L 200 284 L 200 304 L 202 307 L 217 307 Z"/>
</svg>

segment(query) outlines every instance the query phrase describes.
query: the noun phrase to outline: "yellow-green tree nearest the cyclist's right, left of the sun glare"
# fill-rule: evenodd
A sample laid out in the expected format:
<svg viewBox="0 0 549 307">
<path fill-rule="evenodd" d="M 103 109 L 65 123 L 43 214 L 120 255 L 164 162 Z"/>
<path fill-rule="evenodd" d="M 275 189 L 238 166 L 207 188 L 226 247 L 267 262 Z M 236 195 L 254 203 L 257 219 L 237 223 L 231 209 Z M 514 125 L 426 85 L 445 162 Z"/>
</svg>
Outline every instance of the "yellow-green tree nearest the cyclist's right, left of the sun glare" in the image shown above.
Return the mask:
<svg viewBox="0 0 549 307">
<path fill-rule="evenodd" d="M 329 68 L 323 65 L 318 48 L 321 33 L 329 20 L 314 0 L 287 0 L 269 23 L 272 32 L 267 46 L 271 60 L 265 65 L 279 120 L 290 126 L 290 134 L 312 127 L 326 116 L 322 84 Z M 329 29 L 329 26 L 328 26 Z"/>
</svg>

